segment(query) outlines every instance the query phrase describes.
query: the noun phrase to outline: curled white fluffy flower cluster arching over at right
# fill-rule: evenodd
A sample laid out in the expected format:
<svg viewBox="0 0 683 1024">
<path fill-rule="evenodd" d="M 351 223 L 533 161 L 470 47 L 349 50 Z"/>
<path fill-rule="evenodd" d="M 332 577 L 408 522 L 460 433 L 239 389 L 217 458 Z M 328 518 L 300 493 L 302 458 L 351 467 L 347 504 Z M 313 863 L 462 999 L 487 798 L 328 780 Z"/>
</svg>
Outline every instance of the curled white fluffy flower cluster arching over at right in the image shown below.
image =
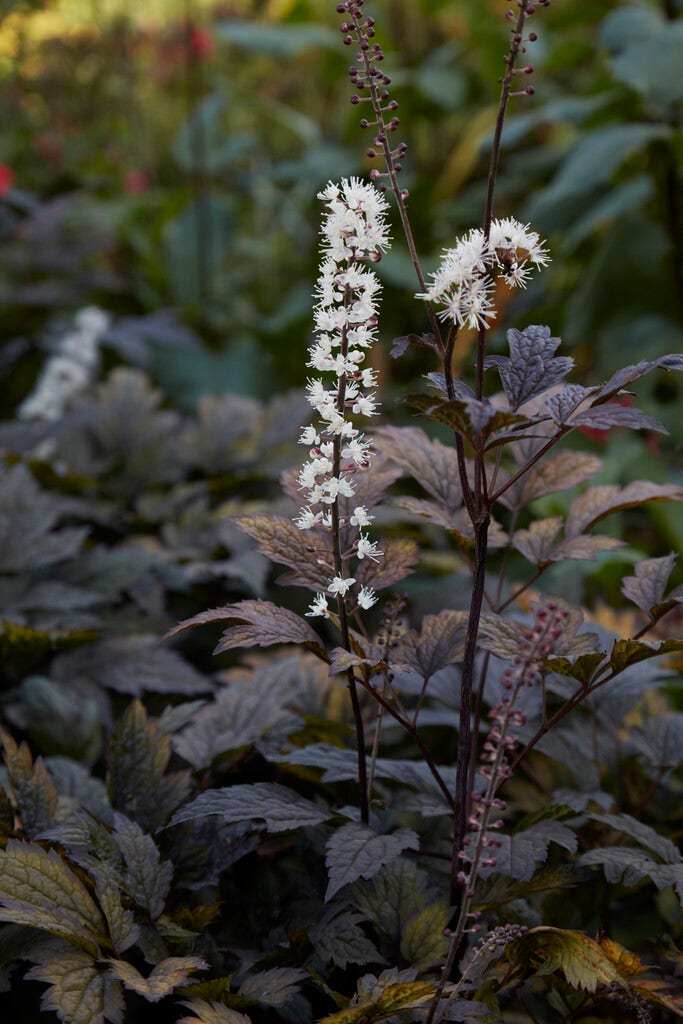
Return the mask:
<svg viewBox="0 0 683 1024">
<path fill-rule="evenodd" d="M 453 321 L 456 327 L 487 327 L 496 318 L 495 279 L 503 278 L 512 288 L 525 288 L 532 267 L 549 262 L 548 250 L 537 232 L 506 217 L 492 223 L 487 240 L 480 228 L 473 228 L 455 248 L 444 249 L 431 284 L 417 298 L 442 306 L 439 317 Z"/>
</svg>

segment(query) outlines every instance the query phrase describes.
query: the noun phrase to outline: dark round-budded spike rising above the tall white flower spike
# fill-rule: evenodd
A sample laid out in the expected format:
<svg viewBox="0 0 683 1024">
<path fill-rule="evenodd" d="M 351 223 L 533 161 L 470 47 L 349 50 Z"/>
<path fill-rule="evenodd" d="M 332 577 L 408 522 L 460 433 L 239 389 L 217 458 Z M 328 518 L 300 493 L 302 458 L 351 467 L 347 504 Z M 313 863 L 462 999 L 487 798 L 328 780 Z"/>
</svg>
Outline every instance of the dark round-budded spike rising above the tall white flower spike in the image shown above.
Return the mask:
<svg viewBox="0 0 683 1024">
<path fill-rule="evenodd" d="M 404 142 L 392 145 L 389 136 L 396 131 L 400 122 L 396 117 L 398 103 L 390 97 L 387 86 L 391 84 L 391 79 L 382 68 L 379 68 L 384 60 L 384 51 L 378 42 L 374 41 L 375 20 L 372 17 L 364 17 L 362 0 L 346 0 L 345 3 L 337 4 L 337 11 L 346 15 L 346 20 L 340 26 L 346 46 L 357 45 L 355 63 L 348 70 L 348 77 L 351 86 L 355 90 L 351 96 L 351 103 L 358 105 L 370 103 L 372 113 L 367 118 L 360 119 L 360 127 L 369 128 L 373 131 L 372 144 L 366 151 L 370 160 L 383 157 L 387 165 L 386 171 L 379 171 L 374 168 L 370 172 L 373 181 L 380 182 L 380 191 L 386 191 L 387 185 L 381 181 L 382 178 L 391 178 L 396 187 L 396 174 L 401 170 L 400 161 L 408 152 Z M 401 199 L 408 198 L 408 190 L 399 190 Z"/>
</svg>

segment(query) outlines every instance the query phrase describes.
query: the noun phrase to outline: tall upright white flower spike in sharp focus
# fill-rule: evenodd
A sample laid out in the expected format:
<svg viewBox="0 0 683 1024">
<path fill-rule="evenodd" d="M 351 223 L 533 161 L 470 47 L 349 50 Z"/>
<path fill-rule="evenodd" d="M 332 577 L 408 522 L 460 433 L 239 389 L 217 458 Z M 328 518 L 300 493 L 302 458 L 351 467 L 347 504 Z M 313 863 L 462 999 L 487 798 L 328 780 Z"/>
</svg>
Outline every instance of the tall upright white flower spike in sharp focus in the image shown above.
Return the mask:
<svg viewBox="0 0 683 1024">
<path fill-rule="evenodd" d="M 323 221 L 323 261 L 317 280 L 314 311 L 315 339 L 307 366 L 327 378 L 308 381 L 308 401 L 319 421 L 305 427 L 299 442 L 309 449 L 309 458 L 299 473 L 299 487 L 306 504 L 295 522 L 299 529 L 331 530 L 339 515 L 343 536 L 353 536 L 343 553 L 344 565 L 351 558 L 377 560 L 381 552 L 364 534 L 373 516 L 362 505 L 353 506 L 354 475 L 368 469 L 372 445 L 349 416 L 374 416 L 377 400 L 376 372 L 365 368 L 366 354 L 375 340 L 380 283 L 368 266 L 377 262 L 389 246 L 387 202 L 380 191 L 357 178 L 332 182 L 318 199 L 326 205 Z M 345 499 L 342 514 L 340 500 Z M 350 527 L 350 529 L 349 529 Z M 345 597 L 355 579 L 344 571 L 330 580 L 328 593 Z M 377 601 L 370 587 L 359 587 L 355 605 L 371 608 Z M 328 598 L 317 594 L 308 615 L 328 615 Z"/>
</svg>

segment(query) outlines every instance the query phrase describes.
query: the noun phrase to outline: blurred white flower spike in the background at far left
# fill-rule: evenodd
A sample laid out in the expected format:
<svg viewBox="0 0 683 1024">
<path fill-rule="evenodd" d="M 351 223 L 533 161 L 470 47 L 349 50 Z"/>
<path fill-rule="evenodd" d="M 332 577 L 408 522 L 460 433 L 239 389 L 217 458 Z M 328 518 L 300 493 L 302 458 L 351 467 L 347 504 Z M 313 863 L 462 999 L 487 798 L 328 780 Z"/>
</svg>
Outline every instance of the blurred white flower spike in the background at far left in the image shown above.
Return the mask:
<svg viewBox="0 0 683 1024">
<path fill-rule="evenodd" d="M 52 422 L 63 416 L 69 402 L 95 376 L 99 343 L 109 324 L 109 315 L 97 306 L 86 306 L 78 311 L 73 330 L 60 340 L 35 388 L 19 406 L 19 419 Z"/>
</svg>

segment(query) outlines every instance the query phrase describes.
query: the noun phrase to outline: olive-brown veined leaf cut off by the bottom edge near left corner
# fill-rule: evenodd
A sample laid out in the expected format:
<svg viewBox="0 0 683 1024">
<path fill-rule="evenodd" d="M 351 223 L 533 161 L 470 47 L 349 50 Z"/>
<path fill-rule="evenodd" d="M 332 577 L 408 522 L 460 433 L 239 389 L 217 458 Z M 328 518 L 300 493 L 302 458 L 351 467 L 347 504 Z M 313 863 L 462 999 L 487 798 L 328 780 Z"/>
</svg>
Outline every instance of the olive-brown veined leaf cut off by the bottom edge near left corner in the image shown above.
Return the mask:
<svg viewBox="0 0 683 1024">
<path fill-rule="evenodd" d="M 50 986 L 41 996 L 41 1009 L 54 1011 L 65 1024 L 122 1024 L 120 983 L 80 949 L 52 952 L 25 977 Z"/>
</svg>

